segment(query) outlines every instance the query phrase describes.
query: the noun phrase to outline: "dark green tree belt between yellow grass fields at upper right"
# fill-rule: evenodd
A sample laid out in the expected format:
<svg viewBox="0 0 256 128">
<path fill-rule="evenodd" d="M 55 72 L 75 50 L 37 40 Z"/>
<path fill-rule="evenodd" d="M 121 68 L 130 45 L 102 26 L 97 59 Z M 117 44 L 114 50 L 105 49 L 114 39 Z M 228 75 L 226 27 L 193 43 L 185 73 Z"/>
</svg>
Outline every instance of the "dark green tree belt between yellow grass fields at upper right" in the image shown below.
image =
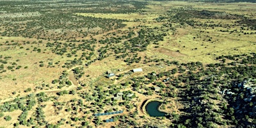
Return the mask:
<svg viewBox="0 0 256 128">
<path fill-rule="evenodd" d="M 243 15 L 230 14 L 227 12 L 214 12 L 209 10 L 196 10 L 191 8 L 172 8 L 168 11 L 166 17 L 159 17 L 156 20 L 164 22 L 165 19 L 169 22 L 176 22 L 180 25 L 184 26 L 188 24 L 189 26 L 204 27 L 204 28 L 214 28 L 214 27 L 222 27 L 222 28 L 230 28 L 230 24 L 216 24 L 214 22 L 199 22 L 195 19 L 236 19 L 239 24 L 232 24 L 232 26 L 241 26 L 244 27 L 243 24 L 246 24 L 248 28 L 254 30 L 255 23 L 254 19 L 246 19 Z M 225 30 L 221 30 L 225 31 Z M 238 32 L 238 31 L 236 31 Z"/>
</svg>

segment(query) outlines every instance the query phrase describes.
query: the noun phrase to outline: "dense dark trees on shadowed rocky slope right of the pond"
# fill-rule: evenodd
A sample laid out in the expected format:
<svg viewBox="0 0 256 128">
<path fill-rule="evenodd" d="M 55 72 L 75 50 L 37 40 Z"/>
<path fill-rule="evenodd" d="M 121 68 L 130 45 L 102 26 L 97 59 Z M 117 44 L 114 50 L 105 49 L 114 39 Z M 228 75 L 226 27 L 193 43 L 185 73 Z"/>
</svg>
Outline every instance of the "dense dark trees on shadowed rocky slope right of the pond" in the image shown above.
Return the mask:
<svg viewBox="0 0 256 128">
<path fill-rule="evenodd" d="M 248 57 L 253 58 L 252 55 L 241 56 L 241 58 Z M 241 59 L 236 61 L 241 63 Z M 187 72 L 170 82 L 176 88 L 181 88 L 180 83 L 186 85 L 186 90 L 182 90 L 178 97 L 188 104 L 184 109 L 188 115 L 180 116 L 177 125 L 182 124 L 186 127 L 215 127 L 216 125 L 245 127 L 250 125 L 250 127 L 255 127 L 253 124 L 255 115 L 252 114 L 255 99 L 246 102 L 242 96 L 248 95 L 248 92 L 237 87 L 237 83 L 241 83 L 244 79 L 255 77 L 255 65 L 243 67 L 213 65 L 213 67 L 209 65 L 204 70 L 192 74 Z M 230 90 L 233 94 L 223 93 L 223 90 Z M 217 100 L 221 104 L 216 104 Z"/>
</svg>

